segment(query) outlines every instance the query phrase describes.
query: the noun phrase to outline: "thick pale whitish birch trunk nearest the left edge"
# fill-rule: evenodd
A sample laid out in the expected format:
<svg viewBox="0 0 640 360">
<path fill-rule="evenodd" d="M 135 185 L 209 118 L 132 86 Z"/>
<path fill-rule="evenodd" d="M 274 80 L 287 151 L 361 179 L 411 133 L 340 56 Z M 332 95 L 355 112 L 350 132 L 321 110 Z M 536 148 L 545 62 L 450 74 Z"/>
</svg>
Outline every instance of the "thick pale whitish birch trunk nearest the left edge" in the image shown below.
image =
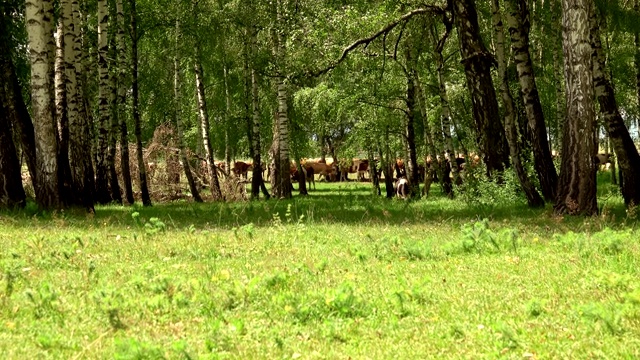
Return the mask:
<svg viewBox="0 0 640 360">
<path fill-rule="evenodd" d="M 45 3 L 51 0 L 29 0 L 26 2 L 26 23 L 29 36 L 29 59 L 31 62 L 31 109 L 36 144 L 36 178 L 33 186 L 36 202 L 45 209 L 61 208 L 58 184 L 58 139 L 52 109 L 49 43 L 53 34 L 46 31 L 52 14 L 45 14 Z M 50 4 L 47 5 L 51 8 Z"/>
</svg>

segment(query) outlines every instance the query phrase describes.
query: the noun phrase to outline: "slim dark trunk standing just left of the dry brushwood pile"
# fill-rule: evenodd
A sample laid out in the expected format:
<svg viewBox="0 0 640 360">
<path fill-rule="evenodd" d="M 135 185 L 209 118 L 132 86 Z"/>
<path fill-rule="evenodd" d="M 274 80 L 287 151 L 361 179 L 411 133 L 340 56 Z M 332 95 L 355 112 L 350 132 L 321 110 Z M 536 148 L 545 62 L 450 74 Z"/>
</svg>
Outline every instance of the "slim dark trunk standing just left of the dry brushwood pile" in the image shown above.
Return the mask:
<svg viewBox="0 0 640 360">
<path fill-rule="evenodd" d="M 140 104 L 138 94 L 138 13 L 136 0 L 131 0 L 131 108 L 133 111 L 134 135 L 136 136 L 136 159 L 138 160 L 138 174 L 140 177 L 140 193 L 142 205 L 151 206 L 149 185 L 147 184 L 147 170 L 144 163 L 142 148 L 142 128 L 140 126 Z"/>
</svg>

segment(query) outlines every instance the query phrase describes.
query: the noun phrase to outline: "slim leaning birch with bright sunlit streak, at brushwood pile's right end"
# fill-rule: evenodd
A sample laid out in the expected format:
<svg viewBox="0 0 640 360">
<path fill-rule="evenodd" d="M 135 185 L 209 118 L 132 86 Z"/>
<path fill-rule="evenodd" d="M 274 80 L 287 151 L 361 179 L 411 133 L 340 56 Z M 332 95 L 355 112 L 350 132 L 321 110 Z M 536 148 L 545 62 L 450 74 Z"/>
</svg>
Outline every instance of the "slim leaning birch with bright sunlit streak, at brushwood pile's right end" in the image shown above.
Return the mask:
<svg viewBox="0 0 640 360">
<path fill-rule="evenodd" d="M 207 102 L 204 92 L 202 60 L 200 58 L 200 45 L 196 44 L 196 56 L 194 71 L 196 74 L 196 90 L 198 92 L 198 114 L 200 115 L 200 133 L 202 134 L 202 144 L 204 145 L 204 156 L 209 171 L 209 187 L 211 195 L 216 201 L 222 200 L 222 192 L 220 191 L 220 182 L 218 181 L 218 171 L 213 160 L 213 148 L 209 137 L 209 114 L 207 113 Z"/>
</svg>

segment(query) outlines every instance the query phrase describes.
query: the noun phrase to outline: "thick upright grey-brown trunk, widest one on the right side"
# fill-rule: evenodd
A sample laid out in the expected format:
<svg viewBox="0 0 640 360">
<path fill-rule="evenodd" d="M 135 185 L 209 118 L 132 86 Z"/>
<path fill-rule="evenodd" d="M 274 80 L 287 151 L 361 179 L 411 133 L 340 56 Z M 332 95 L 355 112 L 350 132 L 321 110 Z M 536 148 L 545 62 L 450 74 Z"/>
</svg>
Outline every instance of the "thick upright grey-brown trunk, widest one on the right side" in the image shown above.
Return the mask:
<svg viewBox="0 0 640 360">
<path fill-rule="evenodd" d="M 596 199 L 596 119 L 589 39 L 592 0 L 562 1 L 567 119 L 562 137 L 558 214 L 593 215 Z"/>
</svg>

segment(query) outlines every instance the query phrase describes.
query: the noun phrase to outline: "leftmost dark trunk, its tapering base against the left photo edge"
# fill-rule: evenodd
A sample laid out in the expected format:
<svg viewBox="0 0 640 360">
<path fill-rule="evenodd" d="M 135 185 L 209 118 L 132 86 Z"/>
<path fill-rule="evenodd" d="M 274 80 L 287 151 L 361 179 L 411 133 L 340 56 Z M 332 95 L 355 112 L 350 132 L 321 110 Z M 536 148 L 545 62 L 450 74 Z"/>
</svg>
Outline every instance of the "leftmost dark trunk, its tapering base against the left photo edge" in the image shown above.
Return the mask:
<svg viewBox="0 0 640 360">
<path fill-rule="evenodd" d="M 4 14 L 0 14 L 4 16 Z M 1 35 L 0 35 L 1 36 Z M 6 96 L 0 88 L 0 99 Z M 4 102 L 0 103 L 0 209 L 24 207 L 26 195 L 22 187 L 20 161 L 11 136 Z"/>
</svg>

